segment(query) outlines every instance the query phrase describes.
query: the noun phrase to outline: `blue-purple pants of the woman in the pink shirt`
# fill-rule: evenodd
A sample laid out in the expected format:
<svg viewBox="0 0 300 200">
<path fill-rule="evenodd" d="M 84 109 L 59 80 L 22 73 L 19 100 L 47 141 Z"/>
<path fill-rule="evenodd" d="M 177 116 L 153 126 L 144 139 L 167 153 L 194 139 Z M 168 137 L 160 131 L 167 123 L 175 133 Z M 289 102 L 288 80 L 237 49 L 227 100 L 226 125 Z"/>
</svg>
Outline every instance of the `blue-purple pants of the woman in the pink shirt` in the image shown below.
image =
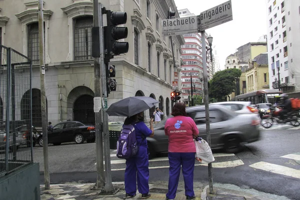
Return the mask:
<svg viewBox="0 0 300 200">
<path fill-rule="evenodd" d="M 195 164 L 195 153 L 176 153 L 168 152 L 169 158 L 169 182 L 166 197 L 173 199 L 176 196 L 176 190 L 180 175 L 180 166 L 182 166 L 182 175 L 184 179 L 184 188 L 186 196 L 194 196 L 193 191 L 193 169 Z"/>
</svg>

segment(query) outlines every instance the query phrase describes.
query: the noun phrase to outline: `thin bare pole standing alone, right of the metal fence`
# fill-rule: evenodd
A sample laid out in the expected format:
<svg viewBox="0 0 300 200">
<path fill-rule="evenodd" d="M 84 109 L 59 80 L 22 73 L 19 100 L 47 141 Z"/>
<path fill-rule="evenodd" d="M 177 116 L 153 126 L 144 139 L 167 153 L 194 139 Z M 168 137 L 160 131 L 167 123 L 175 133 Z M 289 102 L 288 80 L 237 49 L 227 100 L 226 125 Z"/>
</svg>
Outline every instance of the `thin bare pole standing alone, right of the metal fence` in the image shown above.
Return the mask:
<svg viewBox="0 0 300 200">
<path fill-rule="evenodd" d="M 43 0 L 38 0 L 38 44 L 39 44 L 39 65 L 40 65 L 40 104 L 41 104 L 41 127 L 43 140 L 44 159 L 44 183 L 45 189 L 50 188 L 50 174 L 48 163 L 48 133 L 47 133 L 47 110 L 46 110 L 46 89 L 45 89 L 45 63 L 44 63 L 44 25 L 43 25 Z"/>
</svg>

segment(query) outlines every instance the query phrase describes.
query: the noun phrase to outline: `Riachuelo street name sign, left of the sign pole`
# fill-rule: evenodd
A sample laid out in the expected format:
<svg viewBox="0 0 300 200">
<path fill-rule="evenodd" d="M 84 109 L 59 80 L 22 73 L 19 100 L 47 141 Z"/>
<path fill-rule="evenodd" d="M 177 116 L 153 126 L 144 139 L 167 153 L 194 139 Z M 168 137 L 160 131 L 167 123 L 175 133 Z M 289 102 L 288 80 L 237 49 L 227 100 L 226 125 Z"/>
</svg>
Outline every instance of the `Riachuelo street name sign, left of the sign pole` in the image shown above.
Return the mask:
<svg viewBox="0 0 300 200">
<path fill-rule="evenodd" d="M 163 36 L 198 32 L 197 16 L 163 19 L 161 26 Z"/>
</svg>

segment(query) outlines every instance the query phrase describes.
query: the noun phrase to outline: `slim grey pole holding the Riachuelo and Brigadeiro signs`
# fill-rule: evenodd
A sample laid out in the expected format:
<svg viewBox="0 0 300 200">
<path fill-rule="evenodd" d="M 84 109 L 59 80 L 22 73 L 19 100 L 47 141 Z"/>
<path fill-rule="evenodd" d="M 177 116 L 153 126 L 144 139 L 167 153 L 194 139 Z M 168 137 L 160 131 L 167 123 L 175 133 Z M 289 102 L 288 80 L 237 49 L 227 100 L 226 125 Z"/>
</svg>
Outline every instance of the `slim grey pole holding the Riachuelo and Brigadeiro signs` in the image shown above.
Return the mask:
<svg viewBox="0 0 300 200">
<path fill-rule="evenodd" d="M 203 83 L 204 83 L 204 105 L 205 105 L 205 121 L 206 121 L 206 141 L 211 146 L 210 142 L 210 123 L 209 123 L 209 105 L 208 105 L 208 82 L 207 82 L 207 66 L 206 66 L 206 41 L 205 30 L 201 31 L 202 43 L 202 63 L 203 63 Z M 212 187 L 212 164 L 208 163 L 208 182 L 209 193 L 213 193 Z"/>
</svg>

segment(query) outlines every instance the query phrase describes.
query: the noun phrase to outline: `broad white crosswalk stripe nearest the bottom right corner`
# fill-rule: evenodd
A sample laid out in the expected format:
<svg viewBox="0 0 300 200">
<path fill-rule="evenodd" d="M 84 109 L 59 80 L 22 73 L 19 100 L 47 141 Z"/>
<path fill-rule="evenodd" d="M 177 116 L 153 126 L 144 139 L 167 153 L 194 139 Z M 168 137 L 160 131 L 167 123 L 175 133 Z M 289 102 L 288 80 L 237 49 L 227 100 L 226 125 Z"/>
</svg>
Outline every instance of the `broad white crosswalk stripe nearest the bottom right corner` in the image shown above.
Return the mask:
<svg viewBox="0 0 300 200">
<path fill-rule="evenodd" d="M 281 175 L 286 175 L 294 178 L 300 178 L 300 170 L 293 169 L 287 166 L 281 166 L 278 164 L 272 164 L 268 162 L 256 162 L 254 164 L 249 165 L 250 167 L 261 169 L 264 171 L 269 171 L 272 173 L 277 173 Z"/>
</svg>

